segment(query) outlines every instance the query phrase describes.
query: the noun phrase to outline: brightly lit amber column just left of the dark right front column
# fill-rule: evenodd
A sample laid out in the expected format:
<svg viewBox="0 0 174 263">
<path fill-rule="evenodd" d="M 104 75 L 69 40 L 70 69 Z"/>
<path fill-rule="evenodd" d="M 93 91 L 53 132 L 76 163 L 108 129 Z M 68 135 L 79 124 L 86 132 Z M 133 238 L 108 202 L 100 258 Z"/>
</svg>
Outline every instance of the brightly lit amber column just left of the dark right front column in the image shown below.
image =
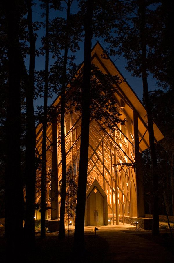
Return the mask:
<svg viewBox="0 0 174 263">
<path fill-rule="evenodd" d="M 131 134 L 133 134 L 133 132 L 132 132 L 132 121 L 128 117 L 127 117 L 127 121 L 128 121 L 128 139 L 130 141 L 132 141 L 132 137 L 131 137 Z M 132 159 L 131 147 L 133 147 L 133 146 L 131 145 L 130 142 L 128 142 L 129 158 Z M 129 169 L 129 190 L 130 190 L 130 202 L 131 202 L 129 215 L 130 216 L 137 216 L 137 187 L 136 187 L 135 171 L 133 169 Z"/>
</svg>

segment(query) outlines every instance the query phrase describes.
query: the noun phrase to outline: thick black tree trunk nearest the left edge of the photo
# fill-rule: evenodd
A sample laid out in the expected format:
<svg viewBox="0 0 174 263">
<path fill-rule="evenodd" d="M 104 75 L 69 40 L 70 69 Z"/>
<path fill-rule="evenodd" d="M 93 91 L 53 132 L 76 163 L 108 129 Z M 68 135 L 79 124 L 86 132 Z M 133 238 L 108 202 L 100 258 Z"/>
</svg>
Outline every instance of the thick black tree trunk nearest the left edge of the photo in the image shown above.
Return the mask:
<svg viewBox="0 0 174 263">
<path fill-rule="evenodd" d="M 6 1 L 8 105 L 6 118 L 5 236 L 6 261 L 18 259 L 23 243 L 23 181 L 21 177 L 20 11 Z"/>
</svg>

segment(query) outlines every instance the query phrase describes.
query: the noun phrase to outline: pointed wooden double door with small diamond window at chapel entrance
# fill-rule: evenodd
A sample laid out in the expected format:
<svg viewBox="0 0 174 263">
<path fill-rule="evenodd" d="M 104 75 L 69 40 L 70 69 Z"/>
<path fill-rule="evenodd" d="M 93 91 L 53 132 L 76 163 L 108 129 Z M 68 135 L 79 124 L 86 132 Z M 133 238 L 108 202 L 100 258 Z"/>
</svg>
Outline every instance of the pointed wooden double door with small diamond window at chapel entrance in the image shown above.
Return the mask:
<svg viewBox="0 0 174 263">
<path fill-rule="evenodd" d="M 87 199 L 87 225 L 103 225 L 104 200 L 97 188 Z"/>
</svg>

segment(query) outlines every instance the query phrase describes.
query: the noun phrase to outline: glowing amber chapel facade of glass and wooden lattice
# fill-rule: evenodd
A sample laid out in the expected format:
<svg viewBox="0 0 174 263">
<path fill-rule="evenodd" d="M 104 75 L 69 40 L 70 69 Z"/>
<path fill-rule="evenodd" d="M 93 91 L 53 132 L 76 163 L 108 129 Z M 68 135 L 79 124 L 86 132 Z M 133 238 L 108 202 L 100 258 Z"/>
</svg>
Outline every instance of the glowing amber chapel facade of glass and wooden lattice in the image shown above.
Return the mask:
<svg viewBox="0 0 174 263">
<path fill-rule="evenodd" d="M 91 52 L 92 63 L 104 74 L 119 75 L 119 70 L 108 57 L 102 58 L 103 48 L 97 43 Z M 83 66 L 83 65 L 82 65 Z M 108 127 L 102 129 L 100 121 L 90 122 L 88 151 L 88 181 L 86 186 L 85 225 L 107 225 L 119 223 L 120 216 L 144 217 L 143 178 L 140 153 L 149 147 L 146 110 L 134 91 L 124 80 L 117 85 L 114 94 L 121 119 L 125 125 L 111 132 Z M 58 97 L 53 106 L 60 103 Z M 47 184 L 46 202 L 52 207 L 47 217 L 59 219 L 61 188 L 61 144 L 60 123 L 55 121 L 47 127 L 47 167 L 50 169 L 50 182 Z M 81 113 L 65 115 L 65 145 L 67 168 L 73 167 L 73 175 L 78 182 L 80 156 Z M 41 154 L 42 125 L 36 130 L 37 151 Z M 154 123 L 155 142 L 163 138 Z M 51 146 L 50 146 L 51 145 Z M 50 146 L 50 147 L 49 147 Z M 128 165 L 124 165 L 127 163 Z M 136 163 L 136 165 L 135 165 Z M 36 194 L 40 202 L 40 193 Z M 37 218 L 39 213 L 37 211 Z"/>
</svg>

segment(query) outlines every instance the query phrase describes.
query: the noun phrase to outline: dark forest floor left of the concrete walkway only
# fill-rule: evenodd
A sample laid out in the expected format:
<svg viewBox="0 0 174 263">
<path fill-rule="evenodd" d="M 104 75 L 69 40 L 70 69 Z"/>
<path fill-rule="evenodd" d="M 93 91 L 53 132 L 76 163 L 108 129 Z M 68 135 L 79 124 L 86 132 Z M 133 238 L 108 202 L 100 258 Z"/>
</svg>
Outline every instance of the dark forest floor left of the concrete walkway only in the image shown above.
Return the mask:
<svg viewBox="0 0 174 263">
<path fill-rule="evenodd" d="M 66 230 L 67 232 L 67 230 Z M 1 233 L 2 234 L 2 233 Z M 67 233 L 66 233 L 67 234 Z M 45 239 L 40 239 L 36 234 L 36 248 L 34 253 L 27 256 L 27 263 L 69 263 L 69 262 L 106 262 L 105 257 L 108 251 L 108 243 L 105 239 L 93 235 L 85 235 L 85 251 L 81 253 L 82 260 L 75 258 L 73 251 L 73 234 L 66 235 L 64 241 L 58 239 L 58 232 L 46 233 Z M 0 262 L 5 262 L 5 239 L 0 236 Z"/>
</svg>

